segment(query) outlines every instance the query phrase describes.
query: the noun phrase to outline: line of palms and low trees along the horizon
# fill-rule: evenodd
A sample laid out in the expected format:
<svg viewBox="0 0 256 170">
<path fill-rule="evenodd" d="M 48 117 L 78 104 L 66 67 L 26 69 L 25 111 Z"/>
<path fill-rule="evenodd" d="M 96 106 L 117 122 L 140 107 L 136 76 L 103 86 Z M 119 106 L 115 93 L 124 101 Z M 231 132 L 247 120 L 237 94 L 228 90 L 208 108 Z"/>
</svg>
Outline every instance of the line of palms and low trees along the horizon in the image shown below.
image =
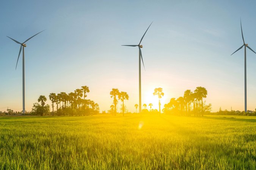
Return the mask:
<svg viewBox="0 0 256 170">
<path fill-rule="evenodd" d="M 27 115 L 57 115 L 57 116 L 88 116 L 93 114 L 99 114 L 99 105 L 93 100 L 86 99 L 87 94 L 90 92 L 89 87 L 82 86 L 80 89 L 74 90 L 69 94 L 60 92 L 58 94 L 50 93 L 49 99 L 50 105 L 45 105 L 47 98 L 45 96 L 39 96 L 38 102 L 34 103 L 32 111 Z M 155 88 L 152 95 L 158 96 L 159 98 L 159 110 L 152 109 L 152 103 L 143 104 L 142 114 L 173 114 L 180 116 L 204 116 L 207 115 L 237 115 L 237 116 L 256 116 L 256 109 L 254 111 L 248 110 L 247 113 L 244 111 L 232 110 L 220 110 L 217 112 L 211 112 L 212 104 L 206 104 L 204 99 L 207 96 L 207 90 L 204 87 L 196 87 L 194 91 L 185 90 L 183 96 L 171 98 L 170 102 L 164 104 L 161 109 L 161 98 L 164 95 L 162 88 Z M 110 91 L 110 97 L 113 99 L 110 110 L 102 111 L 102 114 L 110 113 L 116 115 L 122 113 L 123 116 L 126 113 L 132 113 L 127 110 L 125 100 L 129 100 L 129 95 L 124 91 L 119 91 L 117 88 L 113 88 Z M 120 112 L 118 112 L 118 101 L 121 101 Z M 56 106 L 56 110 L 54 110 Z M 136 112 L 138 113 L 138 104 L 134 105 Z M 149 107 L 149 110 L 148 108 Z M 7 107 L 6 107 L 7 108 Z M 51 111 L 50 111 L 51 108 Z M 14 112 L 13 109 L 7 108 L 7 112 L 0 111 L 1 115 L 20 115 L 22 111 Z"/>
</svg>

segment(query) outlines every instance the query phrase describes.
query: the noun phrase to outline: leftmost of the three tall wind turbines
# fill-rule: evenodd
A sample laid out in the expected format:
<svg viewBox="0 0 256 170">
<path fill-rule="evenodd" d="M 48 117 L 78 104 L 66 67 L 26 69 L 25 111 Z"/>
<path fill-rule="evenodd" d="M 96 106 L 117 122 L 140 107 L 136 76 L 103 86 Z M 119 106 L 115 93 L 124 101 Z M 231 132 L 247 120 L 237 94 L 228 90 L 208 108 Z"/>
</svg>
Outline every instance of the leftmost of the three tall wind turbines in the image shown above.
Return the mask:
<svg viewBox="0 0 256 170">
<path fill-rule="evenodd" d="M 44 31 L 44 30 L 43 30 Z M 41 31 L 42 32 L 42 31 Z M 37 34 L 41 33 L 41 32 L 38 32 Z M 37 34 L 35 34 L 34 36 L 30 37 L 29 39 L 25 40 L 25 42 L 27 42 L 28 40 L 30 40 L 31 38 L 35 37 Z M 6 36 L 8 37 L 8 36 Z M 12 39 L 11 37 L 8 37 L 10 39 Z M 20 52 L 21 52 L 21 48 L 22 48 L 22 89 L 23 89 L 23 109 L 22 109 L 22 113 L 25 114 L 25 54 L 24 54 L 24 47 L 26 47 L 27 45 L 24 43 L 20 43 L 14 39 L 12 39 L 14 42 L 20 44 Z M 18 64 L 18 61 L 19 61 L 19 57 L 20 57 L 20 52 L 19 52 L 19 56 L 18 56 L 18 59 L 17 59 L 17 63 L 16 63 L 16 68 L 17 68 L 17 64 Z M 15 70 L 16 70 L 15 68 Z"/>
</svg>

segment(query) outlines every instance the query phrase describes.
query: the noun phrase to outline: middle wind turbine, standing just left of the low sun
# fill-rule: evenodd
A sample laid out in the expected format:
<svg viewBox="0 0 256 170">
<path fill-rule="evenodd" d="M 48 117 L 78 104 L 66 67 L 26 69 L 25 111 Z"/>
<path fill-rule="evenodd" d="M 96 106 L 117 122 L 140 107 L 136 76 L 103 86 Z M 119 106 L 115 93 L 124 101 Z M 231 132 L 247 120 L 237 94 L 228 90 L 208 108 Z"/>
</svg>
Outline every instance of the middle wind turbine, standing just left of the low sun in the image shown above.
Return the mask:
<svg viewBox="0 0 256 170">
<path fill-rule="evenodd" d="M 151 22 L 152 24 L 153 22 Z M 148 26 L 148 29 L 149 27 L 151 26 L 151 24 Z M 146 32 L 148 31 L 148 29 L 146 30 Z M 146 32 L 144 33 L 144 35 L 142 36 L 141 40 L 140 40 L 140 43 L 143 39 L 143 37 L 145 36 Z M 145 66 L 144 66 L 144 62 L 143 62 L 143 58 L 142 58 L 142 54 L 141 54 L 141 48 L 143 47 L 142 45 L 140 45 L 140 43 L 138 45 L 122 45 L 122 46 L 138 46 L 139 48 L 139 113 L 141 113 L 141 69 L 140 69 L 140 60 L 142 60 L 142 63 L 143 63 L 143 67 L 144 67 L 144 70 L 145 70 Z"/>
</svg>

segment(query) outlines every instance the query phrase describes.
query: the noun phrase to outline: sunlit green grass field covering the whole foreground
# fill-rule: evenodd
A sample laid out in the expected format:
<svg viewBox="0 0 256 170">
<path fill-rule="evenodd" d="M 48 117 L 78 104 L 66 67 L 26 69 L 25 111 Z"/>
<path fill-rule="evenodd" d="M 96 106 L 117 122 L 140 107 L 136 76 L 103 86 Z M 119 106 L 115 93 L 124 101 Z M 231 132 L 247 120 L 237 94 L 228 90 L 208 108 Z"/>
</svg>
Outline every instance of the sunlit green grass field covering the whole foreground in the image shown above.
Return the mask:
<svg viewBox="0 0 256 170">
<path fill-rule="evenodd" d="M 256 117 L 0 117 L 0 168 L 252 170 Z"/>
</svg>

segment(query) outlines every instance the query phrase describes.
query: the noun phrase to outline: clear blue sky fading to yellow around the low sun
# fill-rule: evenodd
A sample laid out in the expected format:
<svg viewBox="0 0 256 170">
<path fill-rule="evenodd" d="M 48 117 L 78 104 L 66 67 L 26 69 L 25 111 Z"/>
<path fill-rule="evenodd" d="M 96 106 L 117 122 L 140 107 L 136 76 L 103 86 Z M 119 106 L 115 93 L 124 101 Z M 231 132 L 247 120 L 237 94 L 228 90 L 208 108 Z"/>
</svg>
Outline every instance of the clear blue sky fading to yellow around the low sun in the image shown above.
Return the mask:
<svg viewBox="0 0 256 170">
<path fill-rule="evenodd" d="M 158 108 L 154 88 L 163 88 L 162 107 L 185 90 L 205 87 L 212 111 L 244 109 L 245 42 L 256 50 L 256 2 L 166 0 L 8 0 L 0 2 L 0 111 L 22 110 L 25 47 L 25 108 L 40 95 L 73 92 L 87 85 L 87 99 L 110 110 L 112 88 L 126 91 L 127 109 L 138 104 L 138 44 L 144 36 L 142 105 Z M 247 108 L 256 108 L 256 54 L 247 49 Z M 121 102 L 119 101 L 119 108 Z"/>
</svg>

